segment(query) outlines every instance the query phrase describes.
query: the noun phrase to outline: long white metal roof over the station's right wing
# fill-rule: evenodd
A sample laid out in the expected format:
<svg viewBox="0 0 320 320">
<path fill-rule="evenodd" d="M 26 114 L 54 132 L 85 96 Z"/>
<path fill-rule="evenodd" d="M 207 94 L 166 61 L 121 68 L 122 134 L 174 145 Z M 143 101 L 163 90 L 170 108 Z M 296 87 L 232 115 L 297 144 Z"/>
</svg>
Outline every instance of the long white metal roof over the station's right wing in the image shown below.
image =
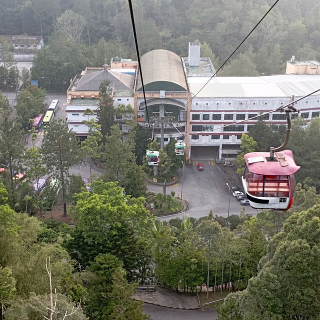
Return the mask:
<svg viewBox="0 0 320 320">
<path fill-rule="evenodd" d="M 209 77 L 188 77 L 190 92 L 196 94 L 209 79 Z M 319 88 L 320 74 L 215 76 L 196 96 L 216 98 L 288 97 L 302 96 Z"/>
</svg>

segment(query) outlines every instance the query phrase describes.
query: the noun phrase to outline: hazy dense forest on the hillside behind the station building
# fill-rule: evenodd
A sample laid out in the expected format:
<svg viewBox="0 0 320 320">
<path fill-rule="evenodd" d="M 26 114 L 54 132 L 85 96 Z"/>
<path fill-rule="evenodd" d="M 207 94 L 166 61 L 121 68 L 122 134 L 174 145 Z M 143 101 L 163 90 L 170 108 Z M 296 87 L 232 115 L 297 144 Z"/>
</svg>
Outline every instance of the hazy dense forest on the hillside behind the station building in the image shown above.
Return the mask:
<svg viewBox="0 0 320 320">
<path fill-rule="evenodd" d="M 2 0 L 0 34 L 43 35 L 46 44 L 62 32 L 80 45 L 81 64 L 99 66 L 114 55 L 136 58 L 126 0 Z M 187 55 L 198 39 L 217 68 L 273 1 L 136 0 L 133 10 L 140 54 L 164 48 Z M 282 0 L 231 60 L 232 75 L 281 73 L 291 55 L 320 59 L 320 4 Z M 65 36 L 66 35 L 66 36 Z M 243 65 L 247 67 L 244 68 Z M 82 66 L 82 65 L 81 65 Z M 242 66 L 242 67 L 240 67 Z M 250 66 L 250 67 L 249 67 Z M 226 66 L 220 75 L 229 75 Z"/>
</svg>

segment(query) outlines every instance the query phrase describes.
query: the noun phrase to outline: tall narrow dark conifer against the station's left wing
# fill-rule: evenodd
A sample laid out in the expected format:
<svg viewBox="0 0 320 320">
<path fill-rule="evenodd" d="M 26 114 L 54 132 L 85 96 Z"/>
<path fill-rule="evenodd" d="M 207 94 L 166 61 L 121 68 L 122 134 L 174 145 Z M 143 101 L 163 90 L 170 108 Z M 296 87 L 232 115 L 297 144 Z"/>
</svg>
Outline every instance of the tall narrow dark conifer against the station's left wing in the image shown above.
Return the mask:
<svg viewBox="0 0 320 320">
<path fill-rule="evenodd" d="M 114 108 L 113 99 L 110 96 L 110 81 L 102 81 L 99 86 L 99 103 L 97 120 L 101 125 L 101 133 L 103 138 L 110 134 L 111 126 L 114 124 Z"/>
</svg>

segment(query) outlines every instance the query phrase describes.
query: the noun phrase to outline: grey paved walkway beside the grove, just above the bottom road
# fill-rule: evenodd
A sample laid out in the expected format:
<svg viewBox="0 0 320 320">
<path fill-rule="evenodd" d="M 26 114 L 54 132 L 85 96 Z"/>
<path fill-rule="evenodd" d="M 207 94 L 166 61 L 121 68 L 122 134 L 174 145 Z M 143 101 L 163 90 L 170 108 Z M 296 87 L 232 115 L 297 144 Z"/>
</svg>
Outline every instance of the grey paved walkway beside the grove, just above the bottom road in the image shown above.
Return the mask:
<svg viewBox="0 0 320 320">
<path fill-rule="evenodd" d="M 154 292 L 137 291 L 134 299 L 178 309 L 198 309 L 199 303 L 196 293 L 171 291 L 159 286 Z"/>
</svg>

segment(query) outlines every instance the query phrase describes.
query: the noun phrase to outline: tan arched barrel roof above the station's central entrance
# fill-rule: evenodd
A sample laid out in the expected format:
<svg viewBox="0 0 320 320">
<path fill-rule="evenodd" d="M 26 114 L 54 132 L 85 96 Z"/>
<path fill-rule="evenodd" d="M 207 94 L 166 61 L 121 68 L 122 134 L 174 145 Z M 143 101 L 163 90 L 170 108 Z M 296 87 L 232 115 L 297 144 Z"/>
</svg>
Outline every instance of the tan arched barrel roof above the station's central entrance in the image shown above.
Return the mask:
<svg viewBox="0 0 320 320">
<path fill-rule="evenodd" d="M 157 49 L 141 56 L 145 91 L 187 91 L 181 58 L 174 52 Z M 142 91 L 140 72 L 136 90 Z"/>
</svg>

